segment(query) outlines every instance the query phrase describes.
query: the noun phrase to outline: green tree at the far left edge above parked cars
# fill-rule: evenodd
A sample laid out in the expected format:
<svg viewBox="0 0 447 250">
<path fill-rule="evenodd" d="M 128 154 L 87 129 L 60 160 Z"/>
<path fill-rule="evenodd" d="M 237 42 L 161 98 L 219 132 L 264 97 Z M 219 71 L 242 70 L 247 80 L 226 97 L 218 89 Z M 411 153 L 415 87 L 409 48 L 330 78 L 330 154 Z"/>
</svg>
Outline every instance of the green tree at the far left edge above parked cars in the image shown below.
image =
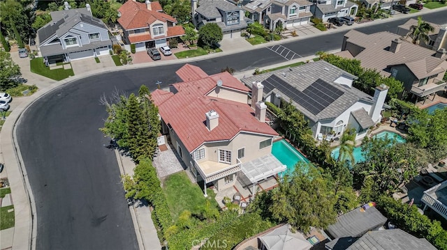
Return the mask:
<svg viewBox="0 0 447 250">
<path fill-rule="evenodd" d="M 8 52 L 0 49 L 0 91 L 17 86 L 21 75 L 19 65 L 14 63 Z"/>
</svg>

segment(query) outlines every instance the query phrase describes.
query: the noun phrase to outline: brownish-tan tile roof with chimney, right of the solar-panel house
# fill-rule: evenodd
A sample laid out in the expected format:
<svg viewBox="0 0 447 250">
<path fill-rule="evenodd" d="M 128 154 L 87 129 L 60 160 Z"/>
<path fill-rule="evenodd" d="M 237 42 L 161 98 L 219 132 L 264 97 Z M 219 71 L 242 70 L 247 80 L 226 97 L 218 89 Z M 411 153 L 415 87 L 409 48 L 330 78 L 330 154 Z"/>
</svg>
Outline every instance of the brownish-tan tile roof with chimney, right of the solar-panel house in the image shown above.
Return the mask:
<svg viewBox="0 0 447 250">
<path fill-rule="evenodd" d="M 360 60 L 363 68 L 379 70 L 385 76 L 390 76 L 390 65 L 406 65 L 418 79 L 443 72 L 447 68 L 445 57 L 437 58 L 433 56 L 432 50 L 413 45 L 406 40 L 401 40 L 397 52 L 390 52 L 391 41 L 400 40 L 400 35 L 394 33 L 385 31 L 367 35 L 351 30 L 344 36 L 347 42 L 364 48 L 354 56 Z"/>
</svg>

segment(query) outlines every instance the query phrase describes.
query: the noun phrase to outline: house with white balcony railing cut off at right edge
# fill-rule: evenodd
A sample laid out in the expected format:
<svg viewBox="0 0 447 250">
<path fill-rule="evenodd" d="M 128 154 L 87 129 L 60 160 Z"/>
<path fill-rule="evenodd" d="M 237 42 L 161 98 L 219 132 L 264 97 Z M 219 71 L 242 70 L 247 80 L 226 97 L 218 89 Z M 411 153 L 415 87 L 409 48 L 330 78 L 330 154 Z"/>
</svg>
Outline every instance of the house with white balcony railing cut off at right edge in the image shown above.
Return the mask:
<svg viewBox="0 0 447 250">
<path fill-rule="evenodd" d="M 431 208 L 447 220 L 447 180 L 425 190 L 420 201 L 425 204 L 424 211 Z"/>
</svg>

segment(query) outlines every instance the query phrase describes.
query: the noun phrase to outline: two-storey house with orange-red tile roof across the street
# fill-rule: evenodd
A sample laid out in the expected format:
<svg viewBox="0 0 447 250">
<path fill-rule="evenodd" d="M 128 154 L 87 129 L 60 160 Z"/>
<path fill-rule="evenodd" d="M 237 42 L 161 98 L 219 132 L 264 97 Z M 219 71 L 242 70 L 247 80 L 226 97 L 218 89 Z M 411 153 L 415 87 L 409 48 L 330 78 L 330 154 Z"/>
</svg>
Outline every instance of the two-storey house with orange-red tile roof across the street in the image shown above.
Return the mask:
<svg viewBox="0 0 447 250">
<path fill-rule="evenodd" d="M 158 1 L 140 3 L 135 0 L 126 1 L 118 9 L 118 23 L 123 30 L 126 45 L 135 45 L 136 51 L 145 51 L 150 47 L 168 45 L 169 38 L 179 38 L 184 35 L 182 26 L 177 26 L 177 20 L 166 13 Z"/>
</svg>

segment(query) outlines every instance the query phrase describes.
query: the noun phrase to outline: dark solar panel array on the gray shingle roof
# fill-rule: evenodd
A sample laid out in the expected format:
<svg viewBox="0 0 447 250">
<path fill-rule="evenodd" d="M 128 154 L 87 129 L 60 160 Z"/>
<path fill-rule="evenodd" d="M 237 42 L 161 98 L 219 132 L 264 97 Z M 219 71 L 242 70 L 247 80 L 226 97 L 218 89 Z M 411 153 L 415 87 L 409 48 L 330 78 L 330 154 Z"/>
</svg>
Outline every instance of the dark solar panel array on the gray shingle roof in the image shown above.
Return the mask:
<svg viewBox="0 0 447 250">
<path fill-rule="evenodd" d="M 317 79 L 304 91 L 298 91 L 277 75 L 271 75 L 265 80 L 265 83 L 271 85 L 269 86 L 270 88 L 277 88 L 282 93 L 288 95 L 288 97 L 291 97 L 292 100 L 314 115 L 320 113 L 344 93 L 322 79 Z"/>
</svg>

